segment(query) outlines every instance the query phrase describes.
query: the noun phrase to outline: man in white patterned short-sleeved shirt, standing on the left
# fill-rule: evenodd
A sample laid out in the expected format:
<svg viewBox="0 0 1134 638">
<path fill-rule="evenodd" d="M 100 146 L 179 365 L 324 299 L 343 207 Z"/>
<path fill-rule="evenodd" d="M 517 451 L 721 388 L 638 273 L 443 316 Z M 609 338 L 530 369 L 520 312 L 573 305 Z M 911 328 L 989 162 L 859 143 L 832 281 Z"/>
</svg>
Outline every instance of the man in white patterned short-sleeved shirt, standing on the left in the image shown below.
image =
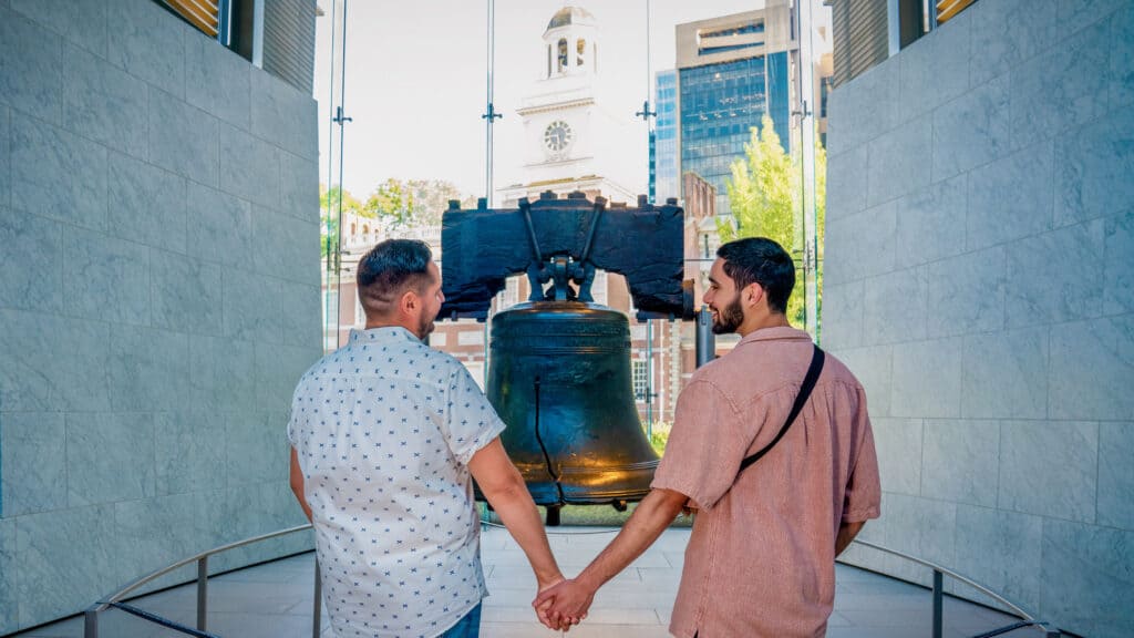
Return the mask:
<svg viewBox="0 0 1134 638">
<path fill-rule="evenodd" d="M 358 262 L 366 329 L 299 379 L 291 489 L 314 523 L 337 638 L 476 637 L 488 593 L 469 475 L 535 571 L 562 580 L 505 425 L 465 367 L 423 339 L 445 301 L 429 246 L 389 240 Z"/>
</svg>

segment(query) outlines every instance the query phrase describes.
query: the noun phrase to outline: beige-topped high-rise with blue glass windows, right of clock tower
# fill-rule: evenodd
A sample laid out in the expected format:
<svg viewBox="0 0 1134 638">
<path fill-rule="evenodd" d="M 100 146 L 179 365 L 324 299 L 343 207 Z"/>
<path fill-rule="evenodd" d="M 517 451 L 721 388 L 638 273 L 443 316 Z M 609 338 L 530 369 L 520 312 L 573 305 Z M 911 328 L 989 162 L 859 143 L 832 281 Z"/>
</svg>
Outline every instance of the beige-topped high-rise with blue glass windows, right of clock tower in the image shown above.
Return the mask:
<svg viewBox="0 0 1134 638">
<path fill-rule="evenodd" d="M 798 94 L 794 32 L 787 0 L 677 25 L 678 170 L 712 184 L 718 215 L 730 212 L 725 183 L 764 114 L 789 150 L 789 104 Z"/>
</svg>

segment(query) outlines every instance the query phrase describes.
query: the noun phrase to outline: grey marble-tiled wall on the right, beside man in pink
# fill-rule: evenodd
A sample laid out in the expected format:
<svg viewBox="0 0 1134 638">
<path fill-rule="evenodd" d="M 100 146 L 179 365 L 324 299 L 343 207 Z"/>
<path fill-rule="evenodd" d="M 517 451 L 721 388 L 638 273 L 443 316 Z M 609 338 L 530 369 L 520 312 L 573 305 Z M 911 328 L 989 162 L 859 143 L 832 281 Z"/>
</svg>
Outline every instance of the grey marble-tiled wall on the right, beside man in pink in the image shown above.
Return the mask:
<svg viewBox="0 0 1134 638">
<path fill-rule="evenodd" d="M 1134 5 L 981 0 L 835 91 L 828 140 L 823 343 L 882 475 L 863 538 L 1134 635 Z"/>
</svg>

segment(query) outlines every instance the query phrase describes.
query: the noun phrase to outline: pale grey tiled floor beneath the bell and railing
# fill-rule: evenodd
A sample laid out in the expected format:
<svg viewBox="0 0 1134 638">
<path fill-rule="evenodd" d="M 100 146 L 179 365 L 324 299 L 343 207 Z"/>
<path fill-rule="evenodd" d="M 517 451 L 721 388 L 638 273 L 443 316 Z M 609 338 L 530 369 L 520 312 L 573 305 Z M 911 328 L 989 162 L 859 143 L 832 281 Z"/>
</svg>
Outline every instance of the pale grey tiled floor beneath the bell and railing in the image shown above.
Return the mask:
<svg viewBox="0 0 1134 638">
<path fill-rule="evenodd" d="M 613 538 L 616 530 L 566 528 L 551 536 L 552 549 L 567 574 L 574 574 Z M 670 529 L 625 572 L 603 587 L 575 638 L 654 638 L 666 628 L 677 593 L 688 529 Z M 555 636 L 539 624 L 531 599 L 535 579 L 523 553 L 502 529 L 482 536 L 484 572 L 491 596 L 485 599 L 484 638 Z M 209 631 L 225 638 L 306 638 L 312 635 L 314 554 L 228 573 L 210 580 Z M 905 638 L 930 636 L 931 596 L 926 589 L 855 568 L 838 565 L 830 638 Z M 192 626 L 195 588 L 179 587 L 133 604 Z M 1012 616 L 946 598 L 945 636 L 975 636 L 1014 622 Z M 323 621 L 323 636 L 327 621 Z M 19 638 L 81 638 L 83 621 L 69 619 L 16 635 Z M 113 610 L 100 621 L 102 638 L 174 638 L 185 636 Z M 1039 636 L 1019 629 L 1009 637 Z"/>
</svg>

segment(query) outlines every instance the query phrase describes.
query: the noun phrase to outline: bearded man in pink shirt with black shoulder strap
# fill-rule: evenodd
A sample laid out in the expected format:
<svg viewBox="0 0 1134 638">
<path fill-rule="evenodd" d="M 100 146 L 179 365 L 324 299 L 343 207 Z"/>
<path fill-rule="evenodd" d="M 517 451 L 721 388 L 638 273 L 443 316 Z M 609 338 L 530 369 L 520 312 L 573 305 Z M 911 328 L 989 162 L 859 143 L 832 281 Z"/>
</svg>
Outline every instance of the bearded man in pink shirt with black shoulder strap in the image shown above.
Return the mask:
<svg viewBox="0 0 1134 638">
<path fill-rule="evenodd" d="M 595 591 L 680 513 L 697 511 L 669 631 L 678 638 L 822 636 L 835 601 L 835 557 L 881 500 L 866 395 L 827 355 L 810 398 L 776 439 L 814 353 L 784 311 L 795 265 L 779 244 L 746 238 L 717 251 L 704 301 L 713 331 L 736 347 L 699 369 L 652 489 L 611 544 L 575 579 L 533 603 L 552 629 L 586 616 Z"/>
</svg>

